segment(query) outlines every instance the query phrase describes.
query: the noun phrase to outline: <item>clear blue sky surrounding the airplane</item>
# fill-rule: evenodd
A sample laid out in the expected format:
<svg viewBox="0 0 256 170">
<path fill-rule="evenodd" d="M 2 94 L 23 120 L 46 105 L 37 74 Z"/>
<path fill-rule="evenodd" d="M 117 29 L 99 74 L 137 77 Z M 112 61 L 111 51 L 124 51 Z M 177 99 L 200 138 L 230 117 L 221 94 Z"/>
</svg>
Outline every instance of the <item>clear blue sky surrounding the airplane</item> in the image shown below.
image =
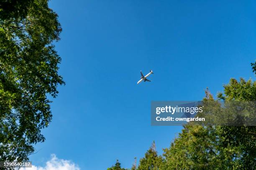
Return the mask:
<svg viewBox="0 0 256 170">
<path fill-rule="evenodd" d="M 151 100 L 201 100 L 206 87 L 216 96 L 231 77 L 254 79 L 253 1 L 52 0 L 50 7 L 63 28 L 56 50 L 66 85 L 34 165 L 54 153 L 82 170 L 116 159 L 131 168 L 153 140 L 162 153 L 182 128 L 151 126 Z M 152 82 L 137 85 L 140 70 L 153 70 Z"/>
</svg>

